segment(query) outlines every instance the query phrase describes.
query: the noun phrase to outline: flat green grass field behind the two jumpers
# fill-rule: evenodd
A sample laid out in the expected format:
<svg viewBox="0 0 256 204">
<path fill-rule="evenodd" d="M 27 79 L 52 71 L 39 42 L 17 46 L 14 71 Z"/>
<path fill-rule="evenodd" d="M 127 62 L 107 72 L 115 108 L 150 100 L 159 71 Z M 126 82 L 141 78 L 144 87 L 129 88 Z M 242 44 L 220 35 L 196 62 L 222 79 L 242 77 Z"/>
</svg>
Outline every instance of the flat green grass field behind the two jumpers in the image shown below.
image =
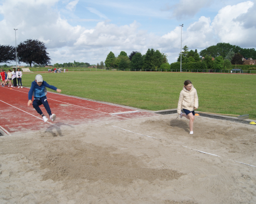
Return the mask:
<svg viewBox="0 0 256 204">
<path fill-rule="evenodd" d="M 30 87 L 35 75 L 62 90 L 85 97 L 145 110 L 177 108 L 179 93 L 187 79 L 197 89 L 198 111 L 220 114 L 250 114 L 256 119 L 256 75 L 197 74 L 174 72 L 67 72 L 24 73 L 23 85 Z"/>
</svg>

